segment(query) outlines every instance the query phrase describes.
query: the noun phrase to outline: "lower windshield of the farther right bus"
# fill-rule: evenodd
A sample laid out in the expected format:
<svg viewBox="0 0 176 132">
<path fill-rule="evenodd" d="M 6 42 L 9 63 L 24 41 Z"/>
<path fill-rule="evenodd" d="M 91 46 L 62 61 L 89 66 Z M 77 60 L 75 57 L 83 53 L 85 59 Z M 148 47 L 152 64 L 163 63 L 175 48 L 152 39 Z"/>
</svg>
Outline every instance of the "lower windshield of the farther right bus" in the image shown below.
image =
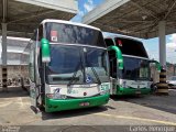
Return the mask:
<svg viewBox="0 0 176 132">
<path fill-rule="evenodd" d="M 122 70 L 123 79 L 148 80 L 150 62 L 147 59 L 123 56 L 124 68 Z"/>
</svg>

